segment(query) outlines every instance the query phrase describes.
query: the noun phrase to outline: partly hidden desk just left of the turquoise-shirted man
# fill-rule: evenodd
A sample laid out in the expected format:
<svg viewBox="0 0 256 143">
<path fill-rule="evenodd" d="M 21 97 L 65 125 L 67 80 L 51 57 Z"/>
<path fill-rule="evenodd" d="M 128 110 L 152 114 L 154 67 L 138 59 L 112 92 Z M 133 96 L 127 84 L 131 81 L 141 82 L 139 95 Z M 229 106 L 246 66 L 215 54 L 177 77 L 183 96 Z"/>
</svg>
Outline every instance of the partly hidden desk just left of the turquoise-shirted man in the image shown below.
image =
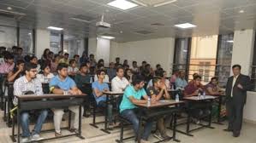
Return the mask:
<svg viewBox="0 0 256 143">
<path fill-rule="evenodd" d="M 109 106 L 109 98 L 110 96 L 119 96 L 122 95 L 123 92 L 113 92 L 113 91 L 107 91 L 107 92 L 103 92 L 103 94 L 106 94 L 106 108 Z M 101 129 L 102 131 L 104 131 L 107 134 L 110 134 L 110 131 L 108 129 L 108 110 L 105 110 L 105 117 L 104 117 L 104 129 Z"/>
</svg>

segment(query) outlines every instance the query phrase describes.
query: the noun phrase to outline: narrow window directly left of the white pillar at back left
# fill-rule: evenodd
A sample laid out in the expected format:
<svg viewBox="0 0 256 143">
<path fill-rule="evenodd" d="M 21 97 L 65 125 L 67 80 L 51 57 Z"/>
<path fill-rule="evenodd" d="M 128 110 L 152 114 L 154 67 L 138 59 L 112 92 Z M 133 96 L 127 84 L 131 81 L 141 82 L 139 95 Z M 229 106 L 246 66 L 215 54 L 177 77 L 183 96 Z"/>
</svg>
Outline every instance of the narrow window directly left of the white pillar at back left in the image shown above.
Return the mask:
<svg viewBox="0 0 256 143">
<path fill-rule="evenodd" d="M 23 54 L 33 54 L 33 30 L 20 29 L 20 47 Z"/>
</svg>

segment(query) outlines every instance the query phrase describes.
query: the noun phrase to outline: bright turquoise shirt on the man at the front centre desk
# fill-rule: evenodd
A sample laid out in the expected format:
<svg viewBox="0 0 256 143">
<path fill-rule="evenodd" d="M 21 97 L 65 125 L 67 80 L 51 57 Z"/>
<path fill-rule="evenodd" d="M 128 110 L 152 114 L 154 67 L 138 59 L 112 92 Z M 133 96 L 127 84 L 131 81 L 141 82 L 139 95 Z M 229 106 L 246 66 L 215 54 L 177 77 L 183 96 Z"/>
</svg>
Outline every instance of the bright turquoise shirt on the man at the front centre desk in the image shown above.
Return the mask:
<svg viewBox="0 0 256 143">
<path fill-rule="evenodd" d="M 146 91 L 145 89 L 140 89 L 138 91 L 136 91 L 134 89 L 134 86 L 128 86 L 123 93 L 122 96 L 122 102 L 120 105 L 120 112 L 126 110 L 126 109 L 134 109 L 137 106 L 135 106 L 130 100 L 129 97 L 130 96 L 134 96 L 134 99 L 140 100 L 142 98 L 142 96 L 146 95 Z"/>
</svg>

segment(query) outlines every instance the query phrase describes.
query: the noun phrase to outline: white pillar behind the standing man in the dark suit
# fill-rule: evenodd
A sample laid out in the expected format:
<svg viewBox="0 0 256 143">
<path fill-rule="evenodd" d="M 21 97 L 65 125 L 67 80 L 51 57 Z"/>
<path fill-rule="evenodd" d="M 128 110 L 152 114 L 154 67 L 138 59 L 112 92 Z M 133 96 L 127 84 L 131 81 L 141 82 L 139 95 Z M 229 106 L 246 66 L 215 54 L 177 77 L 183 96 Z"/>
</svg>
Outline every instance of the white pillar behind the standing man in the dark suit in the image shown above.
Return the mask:
<svg viewBox="0 0 256 143">
<path fill-rule="evenodd" d="M 241 65 L 241 72 L 246 75 L 249 75 L 253 61 L 254 33 L 253 29 L 247 29 L 235 31 L 234 34 L 231 65 Z M 232 75 L 232 72 L 230 74 Z"/>
</svg>

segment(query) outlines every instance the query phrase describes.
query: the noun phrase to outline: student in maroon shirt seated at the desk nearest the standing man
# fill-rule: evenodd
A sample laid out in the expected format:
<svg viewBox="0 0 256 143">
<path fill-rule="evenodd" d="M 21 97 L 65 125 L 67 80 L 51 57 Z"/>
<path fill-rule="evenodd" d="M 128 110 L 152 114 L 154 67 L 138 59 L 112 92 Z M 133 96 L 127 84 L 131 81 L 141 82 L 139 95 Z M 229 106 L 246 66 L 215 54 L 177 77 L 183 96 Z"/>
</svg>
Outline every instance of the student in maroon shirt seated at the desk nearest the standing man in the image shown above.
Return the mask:
<svg viewBox="0 0 256 143">
<path fill-rule="evenodd" d="M 201 86 L 201 77 L 195 76 L 193 77 L 193 83 L 188 83 L 184 90 L 184 96 L 197 96 L 198 94 L 203 94 L 204 89 Z M 200 122 L 200 117 L 203 115 L 209 115 L 211 112 L 206 108 L 207 102 L 205 103 L 193 103 L 192 105 L 195 109 L 191 111 L 192 117 L 195 123 Z"/>
</svg>

